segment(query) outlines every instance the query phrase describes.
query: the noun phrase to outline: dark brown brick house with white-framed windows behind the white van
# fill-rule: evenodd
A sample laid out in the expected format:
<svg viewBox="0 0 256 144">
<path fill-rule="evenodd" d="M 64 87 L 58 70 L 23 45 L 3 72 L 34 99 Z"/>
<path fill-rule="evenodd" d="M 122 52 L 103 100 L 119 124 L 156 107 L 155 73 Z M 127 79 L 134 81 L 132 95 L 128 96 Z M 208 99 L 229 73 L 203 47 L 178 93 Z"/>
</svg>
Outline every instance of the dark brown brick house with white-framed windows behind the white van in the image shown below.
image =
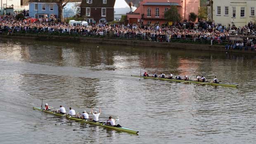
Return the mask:
<svg viewBox="0 0 256 144">
<path fill-rule="evenodd" d="M 114 5 L 116 0 L 83 0 L 81 16 L 88 23 L 107 23 L 114 21 Z"/>
</svg>

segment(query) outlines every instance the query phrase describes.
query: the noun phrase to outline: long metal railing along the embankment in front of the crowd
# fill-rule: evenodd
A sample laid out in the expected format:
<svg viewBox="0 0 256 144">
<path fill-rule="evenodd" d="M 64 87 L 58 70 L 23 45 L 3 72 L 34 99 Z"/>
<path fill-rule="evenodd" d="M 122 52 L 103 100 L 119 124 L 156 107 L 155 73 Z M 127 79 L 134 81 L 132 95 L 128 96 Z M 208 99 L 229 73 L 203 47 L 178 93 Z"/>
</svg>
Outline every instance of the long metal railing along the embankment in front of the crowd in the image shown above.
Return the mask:
<svg viewBox="0 0 256 144">
<path fill-rule="evenodd" d="M 180 42 L 180 43 L 192 43 L 192 44 L 211 44 L 210 39 L 205 38 L 178 38 L 169 37 L 168 35 L 133 35 L 133 34 L 114 34 L 114 33 L 95 33 L 95 32 L 77 32 L 77 31 L 62 31 L 62 30 L 38 30 L 38 29 L 0 29 L 0 34 L 12 33 L 19 34 L 36 34 L 36 35 L 55 35 L 55 36 L 70 36 L 70 37 L 93 37 L 93 38 L 109 38 L 109 39 L 133 39 L 142 41 L 153 41 L 153 42 Z M 226 45 L 229 39 L 214 39 L 213 44 L 215 45 Z"/>
</svg>

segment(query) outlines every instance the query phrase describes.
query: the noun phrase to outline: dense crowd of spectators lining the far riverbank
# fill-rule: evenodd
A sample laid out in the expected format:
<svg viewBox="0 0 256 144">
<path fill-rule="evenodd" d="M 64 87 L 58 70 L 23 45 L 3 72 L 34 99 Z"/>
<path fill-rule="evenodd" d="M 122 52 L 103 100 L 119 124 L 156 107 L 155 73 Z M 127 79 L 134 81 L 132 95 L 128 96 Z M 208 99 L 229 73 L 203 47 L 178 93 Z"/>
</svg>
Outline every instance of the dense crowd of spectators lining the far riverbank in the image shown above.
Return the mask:
<svg viewBox="0 0 256 144">
<path fill-rule="evenodd" d="M 231 30 L 230 30 L 231 29 Z M 199 21 L 197 25 L 190 22 L 175 23 L 173 26 L 151 25 L 118 25 L 118 24 L 91 24 L 89 26 L 70 26 L 68 23 L 59 23 L 49 19 L 38 21 L 16 20 L 14 16 L 0 16 L 0 31 L 12 33 L 63 33 L 81 35 L 107 35 L 120 38 L 137 38 L 156 42 L 171 42 L 172 39 L 183 39 L 213 42 L 229 42 L 230 34 L 255 35 L 255 23 L 236 28 L 235 26 L 216 26 L 213 22 Z M 248 41 L 248 40 L 247 40 Z M 251 42 L 255 42 L 252 39 Z M 232 45 L 235 42 L 230 42 Z M 228 49 L 228 48 L 227 48 Z"/>
</svg>

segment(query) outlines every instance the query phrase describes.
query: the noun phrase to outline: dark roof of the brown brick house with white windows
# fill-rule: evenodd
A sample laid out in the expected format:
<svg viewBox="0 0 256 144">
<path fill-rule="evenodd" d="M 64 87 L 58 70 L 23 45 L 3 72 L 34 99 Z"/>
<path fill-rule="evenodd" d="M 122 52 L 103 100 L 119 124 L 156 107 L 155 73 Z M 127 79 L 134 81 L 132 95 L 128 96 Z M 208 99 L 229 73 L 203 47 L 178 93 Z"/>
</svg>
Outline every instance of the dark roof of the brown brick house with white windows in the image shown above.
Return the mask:
<svg viewBox="0 0 256 144">
<path fill-rule="evenodd" d="M 86 0 L 82 0 L 81 7 L 113 7 L 116 0 L 107 0 L 107 4 L 103 4 L 102 0 L 92 0 L 92 4 L 88 4 Z"/>
</svg>

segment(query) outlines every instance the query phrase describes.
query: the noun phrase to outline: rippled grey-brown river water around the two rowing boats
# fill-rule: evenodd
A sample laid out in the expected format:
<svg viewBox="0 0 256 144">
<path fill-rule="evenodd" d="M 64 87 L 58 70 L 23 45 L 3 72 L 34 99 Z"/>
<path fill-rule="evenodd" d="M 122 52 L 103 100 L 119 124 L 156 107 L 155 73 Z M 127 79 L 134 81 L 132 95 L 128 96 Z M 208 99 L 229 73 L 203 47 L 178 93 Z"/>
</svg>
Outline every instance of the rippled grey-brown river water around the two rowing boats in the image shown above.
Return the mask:
<svg viewBox="0 0 256 144">
<path fill-rule="evenodd" d="M 147 71 L 217 76 L 238 88 L 131 77 Z M 0 39 L 1 144 L 252 144 L 256 56 L 87 43 Z M 139 135 L 33 110 L 48 103 L 119 117 Z M 106 118 L 100 118 L 105 120 Z"/>
</svg>

